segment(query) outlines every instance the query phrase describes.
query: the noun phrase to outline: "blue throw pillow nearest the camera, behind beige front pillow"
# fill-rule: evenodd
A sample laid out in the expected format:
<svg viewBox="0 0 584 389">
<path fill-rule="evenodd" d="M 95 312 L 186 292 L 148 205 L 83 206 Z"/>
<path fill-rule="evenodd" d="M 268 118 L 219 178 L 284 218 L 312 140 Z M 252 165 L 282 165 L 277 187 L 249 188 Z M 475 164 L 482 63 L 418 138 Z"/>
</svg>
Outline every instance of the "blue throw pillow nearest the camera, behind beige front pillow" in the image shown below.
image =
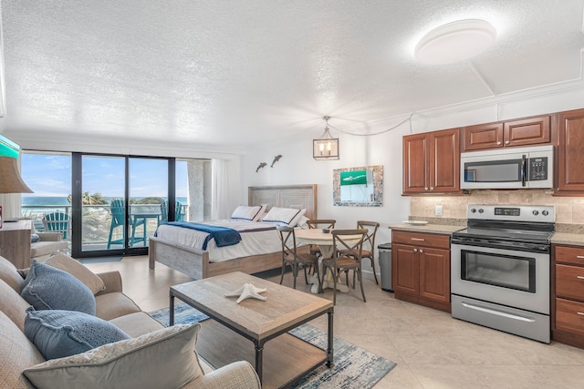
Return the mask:
<svg viewBox="0 0 584 389">
<path fill-rule="evenodd" d="M 130 339 L 110 322 L 75 311 L 26 309 L 25 334 L 45 359 L 85 353 L 107 343 Z"/>
</svg>

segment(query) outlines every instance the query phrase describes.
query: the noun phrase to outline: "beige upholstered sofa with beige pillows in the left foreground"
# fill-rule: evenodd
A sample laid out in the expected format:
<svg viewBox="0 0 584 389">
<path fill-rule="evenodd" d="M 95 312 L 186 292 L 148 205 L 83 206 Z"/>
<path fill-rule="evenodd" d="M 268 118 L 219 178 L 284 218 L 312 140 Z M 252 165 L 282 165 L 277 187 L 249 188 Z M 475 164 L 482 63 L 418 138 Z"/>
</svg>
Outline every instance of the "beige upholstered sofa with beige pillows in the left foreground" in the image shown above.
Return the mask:
<svg viewBox="0 0 584 389">
<path fill-rule="evenodd" d="M 57 269 L 75 276 L 75 282 L 83 283 L 93 293 L 94 320 L 125 333 L 126 338 L 83 353 L 47 360 L 41 351 L 42 343 L 38 348 L 38 343 L 26 336 L 30 328 L 27 321 L 32 322 L 31 312 L 66 311 L 36 311 L 21 296 L 30 286 L 29 273 L 41 265 L 42 269 Z M 58 288 L 76 300 L 76 292 L 68 291 L 66 283 L 59 282 Z M 96 274 L 63 253 L 52 255 L 42 264 L 34 261 L 29 270 L 17 270 L 12 262 L 0 257 L 0 295 L 0 386 L 3 388 L 244 389 L 261 386 L 250 363 L 239 361 L 216 370 L 204 363 L 194 350 L 201 325 L 164 327 L 122 292 L 118 271 Z"/>
</svg>

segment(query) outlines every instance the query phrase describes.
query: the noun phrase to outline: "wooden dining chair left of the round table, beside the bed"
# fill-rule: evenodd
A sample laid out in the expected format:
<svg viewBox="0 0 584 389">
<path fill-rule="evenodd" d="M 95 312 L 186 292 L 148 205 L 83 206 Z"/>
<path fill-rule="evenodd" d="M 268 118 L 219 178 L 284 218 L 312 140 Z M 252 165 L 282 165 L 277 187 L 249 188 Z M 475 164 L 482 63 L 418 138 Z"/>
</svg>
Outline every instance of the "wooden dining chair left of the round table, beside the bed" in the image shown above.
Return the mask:
<svg viewBox="0 0 584 389">
<path fill-rule="evenodd" d="M 286 266 L 292 268 L 292 275 L 294 276 L 294 289 L 296 289 L 296 279 L 298 270 L 304 270 L 304 280 L 308 284 L 307 268 L 314 267 L 317 277 L 318 274 L 318 257 L 316 255 L 297 251 L 296 233 L 294 228 L 288 226 L 276 226 L 277 234 L 282 241 L 282 275 L 280 276 L 280 284 L 284 281 L 284 271 Z M 318 278 L 319 280 L 319 278 Z"/>
</svg>

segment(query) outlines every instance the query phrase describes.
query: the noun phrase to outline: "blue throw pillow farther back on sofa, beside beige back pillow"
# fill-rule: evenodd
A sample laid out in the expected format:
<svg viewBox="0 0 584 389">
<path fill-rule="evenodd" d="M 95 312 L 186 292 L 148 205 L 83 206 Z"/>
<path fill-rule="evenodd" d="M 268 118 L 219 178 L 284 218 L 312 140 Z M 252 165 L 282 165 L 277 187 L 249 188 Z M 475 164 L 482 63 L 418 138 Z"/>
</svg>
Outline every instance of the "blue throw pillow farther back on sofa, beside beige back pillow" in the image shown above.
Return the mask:
<svg viewBox="0 0 584 389">
<path fill-rule="evenodd" d="M 78 311 L 95 315 L 95 297 L 67 271 L 33 260 L 20 295 L 40 310 Z"/>
</svg>

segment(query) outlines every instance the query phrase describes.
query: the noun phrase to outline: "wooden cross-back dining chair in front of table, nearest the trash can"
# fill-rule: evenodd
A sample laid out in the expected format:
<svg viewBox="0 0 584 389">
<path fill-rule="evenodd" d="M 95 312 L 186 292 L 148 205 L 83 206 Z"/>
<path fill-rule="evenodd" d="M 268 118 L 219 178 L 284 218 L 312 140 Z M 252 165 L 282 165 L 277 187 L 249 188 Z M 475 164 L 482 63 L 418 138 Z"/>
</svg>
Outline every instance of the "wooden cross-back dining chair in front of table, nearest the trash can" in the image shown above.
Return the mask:
<svg viewBox="0 0 584 389">
<path fill-rule="evenodd" d="M 332 230 L 333 247 L 335 247 L 335 254 L 332 258 L 322 259 L 322 280 L 320 284 L 325 280 L 325 275 L 327 270 L 332 272 L 333 276 L 333 294 L 332 302 L 337 303 L 337 281 L 339 274 L 345 272 L 346 282 L 349 285 L 349 275 L 348 271 L 355 271 L 357 278 L 360 282 L 361 295 L 363 296 L 363 302 L 365 300 L 365 291 L 363 290 L 363 277 L 361 275 L 361 254 L 363 250 L 363 241 L 367 235 L 367 229 L 357 229 L 357 230 Z M 349 235 L 360 235 L 359 239 L 352 239 Z"/>
</svg>

